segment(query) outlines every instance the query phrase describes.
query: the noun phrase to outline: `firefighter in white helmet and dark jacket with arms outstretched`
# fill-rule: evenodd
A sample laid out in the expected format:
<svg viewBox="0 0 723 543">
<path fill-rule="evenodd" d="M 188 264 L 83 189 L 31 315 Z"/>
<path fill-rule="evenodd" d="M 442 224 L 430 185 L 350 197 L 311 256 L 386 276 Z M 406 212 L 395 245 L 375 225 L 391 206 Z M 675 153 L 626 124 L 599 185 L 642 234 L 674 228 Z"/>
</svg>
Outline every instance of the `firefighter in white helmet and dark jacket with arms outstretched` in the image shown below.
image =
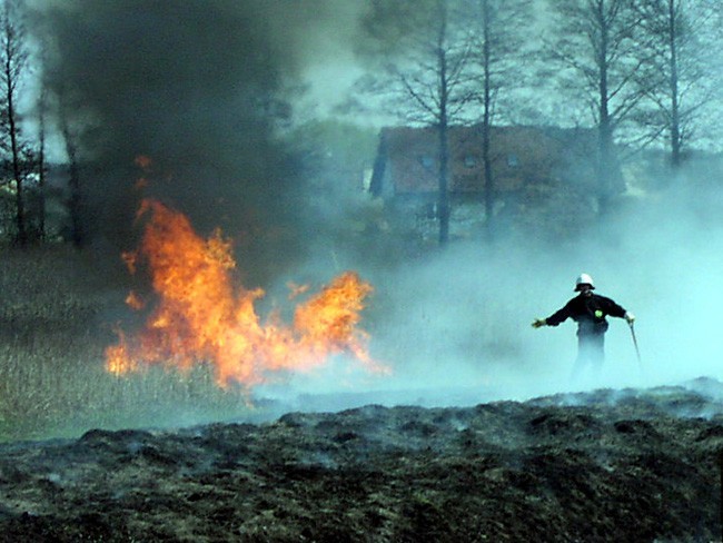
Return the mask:
<svg viewBox="0 0 723 543">
<path fill-rule="evenodd" d="M 630 325 L 635 320 L 632 313 L 626 312 L 612 299 L 594 294 L 594 289 L 593 278 L 587 274 L 581 274 L 575 282 L 577 296 L 549 317 L 536 318 L 532 324 L 534 328 L 557 326 L 567 318 L 577 323 L 577 359 L 573 375 L 577 375 L 586 365 L 591 365 L 597 372 L 601 369 L 605 358 L 605 332 L 608 327 L 605 317 L 624 318 Z"/>
</svg>

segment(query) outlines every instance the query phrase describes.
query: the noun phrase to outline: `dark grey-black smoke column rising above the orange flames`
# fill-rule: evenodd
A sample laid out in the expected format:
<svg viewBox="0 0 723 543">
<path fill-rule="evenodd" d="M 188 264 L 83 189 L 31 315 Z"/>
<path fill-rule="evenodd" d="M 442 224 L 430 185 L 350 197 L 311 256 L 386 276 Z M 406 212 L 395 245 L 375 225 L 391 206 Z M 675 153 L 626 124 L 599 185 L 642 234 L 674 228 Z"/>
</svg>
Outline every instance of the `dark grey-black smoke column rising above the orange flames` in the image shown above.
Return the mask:
<svg viewBox="0 0 723 543">
<path fill-rule="evenodd" d="M 309 67 L 341 49 L 334 43 L 354 20 L 354 2 L 46 0 L 33 8 L 43 77 L 85 167 L 95 231 L 128 246 L 138 199 L 155 196 L 200 231 L 220 226 L 257 266 L 269 251 L 297 250 L 303 179 L 278 130 L 313 90 Z M 150 158 L 146 171 L 135 167 L 138 156 Z M 139 191 L 141 175 L 149 182 Z"/>
</svg>

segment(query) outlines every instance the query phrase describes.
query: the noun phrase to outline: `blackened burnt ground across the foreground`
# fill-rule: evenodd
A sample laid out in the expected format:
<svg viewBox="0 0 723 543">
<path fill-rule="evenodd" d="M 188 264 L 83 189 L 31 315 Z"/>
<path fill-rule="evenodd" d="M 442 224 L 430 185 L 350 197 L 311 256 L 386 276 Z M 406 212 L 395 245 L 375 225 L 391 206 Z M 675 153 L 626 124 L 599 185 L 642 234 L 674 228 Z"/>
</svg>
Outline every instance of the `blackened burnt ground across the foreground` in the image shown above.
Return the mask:
<svg viewBox="0 0 723 543">
<path fill-rule="evenodd" d="M 720 541 L 723 385 L 0 445 L 3 542 Z"/>
</svg>

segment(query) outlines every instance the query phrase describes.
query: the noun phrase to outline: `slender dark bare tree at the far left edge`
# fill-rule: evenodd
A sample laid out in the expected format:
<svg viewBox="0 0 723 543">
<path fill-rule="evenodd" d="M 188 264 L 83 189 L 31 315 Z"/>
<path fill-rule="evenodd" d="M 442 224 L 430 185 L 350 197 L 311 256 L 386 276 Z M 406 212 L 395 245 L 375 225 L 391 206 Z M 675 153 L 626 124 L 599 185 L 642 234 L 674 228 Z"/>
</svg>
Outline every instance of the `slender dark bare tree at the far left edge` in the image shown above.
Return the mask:
<svg viewBox="0 0 723 543">
<path fill-rule="evenodd" d="M 24 180 L 29 147 L 22 141 L 18 100 L 23 76 L 28 70 L 28 43 L 22 21 L 21 0 L 2 0 L 0 6 L 0 134 L 16 188 L 16 237 L 20 246 L 28 243 L 26 221 Z"/>
</svg>

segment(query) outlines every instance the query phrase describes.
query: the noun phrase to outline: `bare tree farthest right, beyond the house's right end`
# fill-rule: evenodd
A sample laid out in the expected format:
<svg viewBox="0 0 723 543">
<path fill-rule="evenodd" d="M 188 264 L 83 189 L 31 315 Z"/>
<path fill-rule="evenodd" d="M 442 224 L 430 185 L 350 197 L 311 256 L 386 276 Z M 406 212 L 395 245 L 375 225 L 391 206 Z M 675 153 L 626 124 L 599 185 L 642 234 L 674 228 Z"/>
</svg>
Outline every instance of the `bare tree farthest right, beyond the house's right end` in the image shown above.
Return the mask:
<svg viewBox="0 0 723 543">
<path fill-rule="evenodd" d="M 685 146 L 715 98 L 721 81 L 712 70 L 722 45 L 720 8 L 704 0 L 642 0 L 640 19 L 652 50 L 641 70 L 652 110 L 641 115 L 651 138 L 665 135 L 671 167 L 680 169 Z"/>
</svg>

